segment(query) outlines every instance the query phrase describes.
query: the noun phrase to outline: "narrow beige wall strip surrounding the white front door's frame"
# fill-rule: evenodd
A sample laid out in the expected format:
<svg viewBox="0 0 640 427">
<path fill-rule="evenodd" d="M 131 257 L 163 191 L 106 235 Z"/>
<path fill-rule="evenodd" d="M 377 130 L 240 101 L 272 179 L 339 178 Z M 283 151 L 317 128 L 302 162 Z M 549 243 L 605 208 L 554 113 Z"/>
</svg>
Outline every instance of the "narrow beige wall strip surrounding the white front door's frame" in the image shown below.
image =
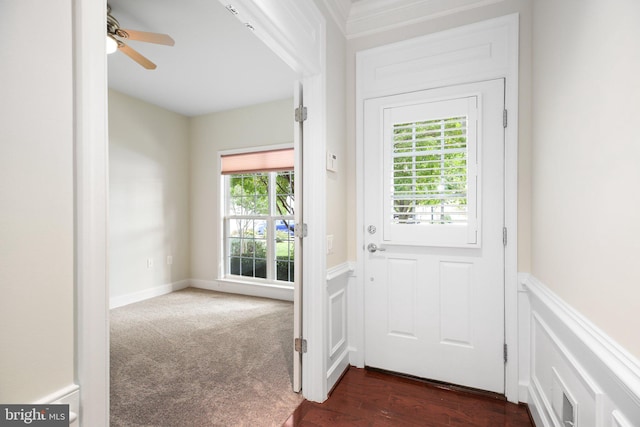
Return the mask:
<svg viewBox="0 0 640 427">
<path fill-rule="evenodd" d="M 347 211 L 349 259 L 356 258 L 356 188 L 355 188 L 355 55 L 360 50 L 407 40 L 450 28 L 471 24 L 511 13 L 520 14 L 520 103 L 518 159 L 518 271 L 531 266 L 531 1 L 504 0 L 469 11 L 439 17 L 418 24 L 354 38 L 347 43 L 347 148 L 349 187 Z"/>
</svg>

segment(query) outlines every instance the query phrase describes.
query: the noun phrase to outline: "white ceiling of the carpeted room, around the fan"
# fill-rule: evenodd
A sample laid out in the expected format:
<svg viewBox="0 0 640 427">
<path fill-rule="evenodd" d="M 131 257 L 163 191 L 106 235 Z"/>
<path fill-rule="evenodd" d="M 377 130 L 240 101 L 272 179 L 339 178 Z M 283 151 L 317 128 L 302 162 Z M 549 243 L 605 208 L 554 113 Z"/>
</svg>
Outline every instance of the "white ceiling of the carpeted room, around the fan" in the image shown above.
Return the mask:
<svg viewBox="0 0 640 427">
<path fill-rule="evenodd" d="M 109 87 L 186 116 L 293 95 L 296 75 L 216 0 L 109 0 L 122 28 L 169 34 L 175 46 L 129 41 L 157 64 L 109 55 Z"/>
</svg>

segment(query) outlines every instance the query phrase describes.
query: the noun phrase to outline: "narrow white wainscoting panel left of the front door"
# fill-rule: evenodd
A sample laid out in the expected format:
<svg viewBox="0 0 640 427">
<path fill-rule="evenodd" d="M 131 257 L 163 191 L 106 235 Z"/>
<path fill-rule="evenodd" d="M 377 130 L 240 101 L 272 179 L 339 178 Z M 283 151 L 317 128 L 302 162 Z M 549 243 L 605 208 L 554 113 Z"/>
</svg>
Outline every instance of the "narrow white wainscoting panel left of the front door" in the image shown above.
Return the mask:
<svg viewBox="0 0 640 427">
<path fill-rule="evenodd" d="M 353 268 L 344 263 L 327 272 L 327 390 L 331 390 L 349 366 L 347 339 L 347 285 Z"/>
</svg>

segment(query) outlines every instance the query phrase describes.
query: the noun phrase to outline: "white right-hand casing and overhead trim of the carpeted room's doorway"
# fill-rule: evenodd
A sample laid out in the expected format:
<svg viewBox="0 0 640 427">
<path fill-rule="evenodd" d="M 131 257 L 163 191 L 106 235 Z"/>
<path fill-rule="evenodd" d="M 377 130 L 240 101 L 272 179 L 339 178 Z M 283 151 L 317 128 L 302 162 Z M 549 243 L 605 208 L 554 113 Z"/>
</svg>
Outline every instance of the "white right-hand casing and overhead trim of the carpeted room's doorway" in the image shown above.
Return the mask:
<svg viewBox="0 0 640 427">
<path fill-rule="evenodd" d="M 219 0 L 225 4 L 226 0 Z M 302 222 L 308 225 L 302 266 L 302 392 L 327 398 L 326 372 L 326 21 L 312 1 L 236 0 L 237 18 L 302 78 L 304 122 Z"/>
</svg>

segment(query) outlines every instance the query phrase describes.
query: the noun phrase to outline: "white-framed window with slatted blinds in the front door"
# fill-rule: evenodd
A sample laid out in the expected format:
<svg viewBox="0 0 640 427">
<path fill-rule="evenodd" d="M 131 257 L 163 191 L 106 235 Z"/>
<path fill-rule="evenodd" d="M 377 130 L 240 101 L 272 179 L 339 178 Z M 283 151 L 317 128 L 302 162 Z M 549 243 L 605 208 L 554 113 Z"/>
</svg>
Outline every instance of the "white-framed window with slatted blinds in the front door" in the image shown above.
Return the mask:
<svg viewBox="0 0 640 427">
<path fill-rule="evenodd" d="M 478 96 L 384 109 L 384 241 L 477 247 Z"/>
</svg>

